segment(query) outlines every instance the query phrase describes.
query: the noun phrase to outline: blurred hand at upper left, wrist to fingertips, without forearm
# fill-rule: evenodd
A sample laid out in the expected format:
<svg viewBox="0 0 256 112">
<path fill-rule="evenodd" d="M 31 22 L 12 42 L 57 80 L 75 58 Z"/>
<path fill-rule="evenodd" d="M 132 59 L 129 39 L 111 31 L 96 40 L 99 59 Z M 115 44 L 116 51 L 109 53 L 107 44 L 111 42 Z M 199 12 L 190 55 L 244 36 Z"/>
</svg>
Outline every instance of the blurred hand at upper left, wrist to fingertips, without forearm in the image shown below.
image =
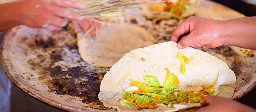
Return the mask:
<svg viewBox="0 0 256 112">
<path fill-rule="evenodd" d="M 23 0 L 19 7 L 22 24 L 50 31 L 66 26 L 67 19 L 83 20 L 81 15 L 68 8 L 85 8 L 83 4 L 72 0 Z"/>
</svg>

